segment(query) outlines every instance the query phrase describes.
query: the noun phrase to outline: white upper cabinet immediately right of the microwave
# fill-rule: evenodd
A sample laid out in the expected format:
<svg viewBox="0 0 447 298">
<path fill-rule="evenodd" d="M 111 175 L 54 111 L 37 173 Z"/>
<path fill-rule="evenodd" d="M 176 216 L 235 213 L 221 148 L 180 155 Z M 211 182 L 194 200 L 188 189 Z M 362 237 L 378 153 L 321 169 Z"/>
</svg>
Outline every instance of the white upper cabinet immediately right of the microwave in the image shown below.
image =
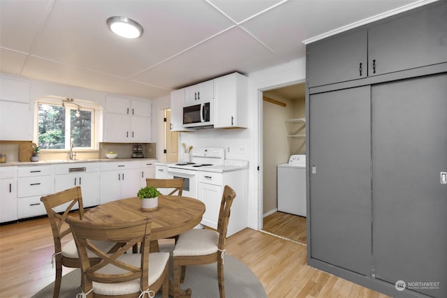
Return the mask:
<svg viewBox="0 0 447 298">
<path fill-rule="evenodd" d="M 214 79 L 214 128 L 247 128 L 247 93 L 240 73 Z"/>
</svg>

